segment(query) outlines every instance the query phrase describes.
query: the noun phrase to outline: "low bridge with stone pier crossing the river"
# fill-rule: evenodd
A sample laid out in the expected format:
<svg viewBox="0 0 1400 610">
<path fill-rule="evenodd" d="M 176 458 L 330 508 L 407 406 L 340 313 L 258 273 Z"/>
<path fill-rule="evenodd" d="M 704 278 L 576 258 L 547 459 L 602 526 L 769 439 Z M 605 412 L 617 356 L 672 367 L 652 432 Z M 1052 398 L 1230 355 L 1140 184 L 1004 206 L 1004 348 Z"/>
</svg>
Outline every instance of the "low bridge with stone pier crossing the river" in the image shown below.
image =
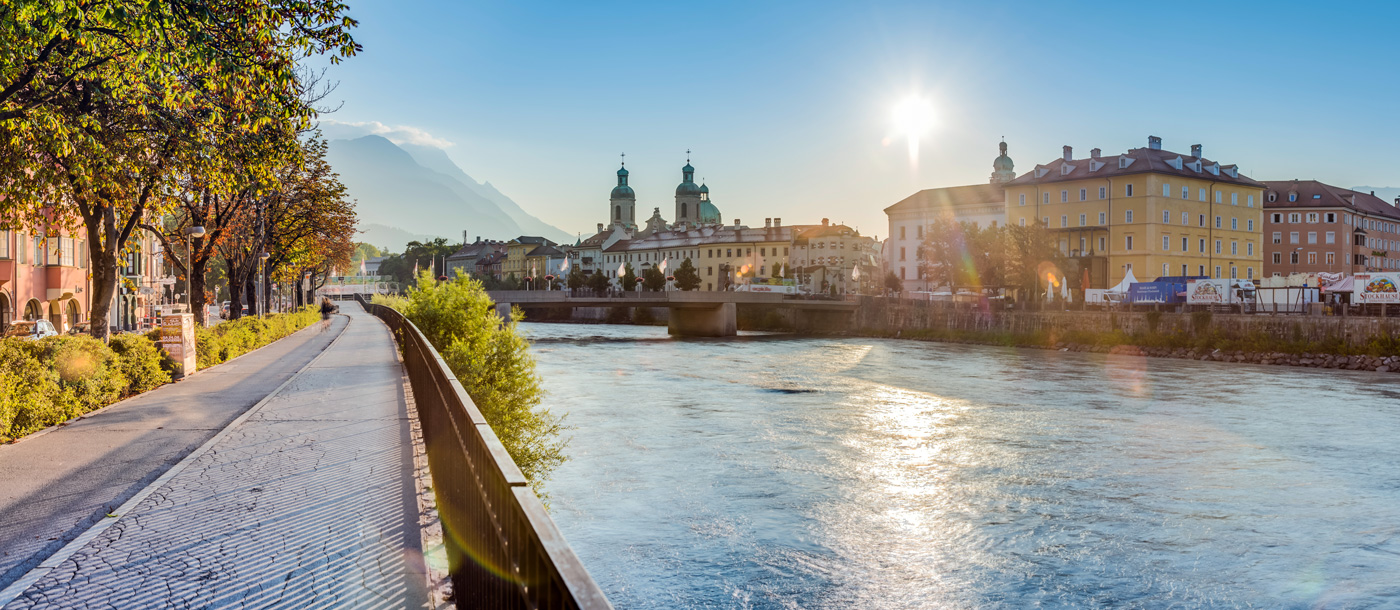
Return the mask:
<svg viewBox="0 0 1400 610">
<path fill-rule="evenodd" d="M 503 316 L 510 313 L 511 306 L 521 309 L 668 308 L 671 316 L 666 327 L 671 334 L 682 337 L 732 337 L 738 334 L 736 311 L 741 306 L 787 309 L 795 318 L 797 327 L 843 325 L 857 308 L 854 301 L 795 298 L 774 292 L 624 291 L 598 295 L 563 290 L 501 290 L 491 291 L 490 295 Z"/>
</svg>

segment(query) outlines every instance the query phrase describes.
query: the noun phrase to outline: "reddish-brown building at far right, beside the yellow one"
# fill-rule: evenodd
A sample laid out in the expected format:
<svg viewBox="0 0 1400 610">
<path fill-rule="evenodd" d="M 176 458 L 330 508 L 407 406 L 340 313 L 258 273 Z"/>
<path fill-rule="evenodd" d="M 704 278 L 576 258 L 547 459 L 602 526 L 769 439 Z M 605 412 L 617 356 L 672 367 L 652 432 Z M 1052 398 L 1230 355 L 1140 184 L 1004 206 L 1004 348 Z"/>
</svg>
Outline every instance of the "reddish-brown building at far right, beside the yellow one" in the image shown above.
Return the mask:
<svg viewBox="0 0 1400 610">
<path fill-rule="evenodd" d="M 1400 200 L 1317 180 L 1264 186 L 1264 276 L 1400 270 Z"/>
</svg>

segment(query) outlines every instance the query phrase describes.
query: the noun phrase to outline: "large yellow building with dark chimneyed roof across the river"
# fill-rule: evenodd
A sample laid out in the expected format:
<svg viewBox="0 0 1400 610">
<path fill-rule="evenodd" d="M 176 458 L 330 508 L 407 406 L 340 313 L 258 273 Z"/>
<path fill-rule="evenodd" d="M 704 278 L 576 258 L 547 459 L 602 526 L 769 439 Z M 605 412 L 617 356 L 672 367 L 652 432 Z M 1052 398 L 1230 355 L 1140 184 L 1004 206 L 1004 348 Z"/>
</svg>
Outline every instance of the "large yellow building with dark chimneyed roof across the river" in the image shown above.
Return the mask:
<svg viewBox="0 0 1400 610">
<path fill-rule="evenodd" d="M 1089 270 L 1091 288 L 1116 285 L 1128 270 L 1159 276 L 1254 280 L 1263 276 L 1264 185 L 1235 165 L 1145 148 L 1064 157 L 1007 183 L 1007 224 L 1044 222 L 1060 249 Z M 1071 287 L 1079 283 L 1071 280 Z"/>
</svg>

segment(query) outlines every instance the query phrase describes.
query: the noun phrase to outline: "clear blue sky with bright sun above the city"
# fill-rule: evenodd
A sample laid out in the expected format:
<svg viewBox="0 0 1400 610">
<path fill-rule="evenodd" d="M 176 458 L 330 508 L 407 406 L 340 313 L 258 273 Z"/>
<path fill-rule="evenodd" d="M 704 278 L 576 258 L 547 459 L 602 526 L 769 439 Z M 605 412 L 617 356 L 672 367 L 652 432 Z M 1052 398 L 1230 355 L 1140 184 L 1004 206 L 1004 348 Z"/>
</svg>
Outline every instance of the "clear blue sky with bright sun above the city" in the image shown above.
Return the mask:
<svg viewBox="0 0 1400 610">
<path fill-rule="evenodd" d="M 910 193 L 986 182 L 1002 136 L 1018 172 L 1155 134 L 1256 179 L 1400 186 L 1400 3 L 350 7 L 364 52 L 332 69 L 344 105 L 325 119 L 444 146 L 585 235 L 619 152 L 638 217 L 672 215 L 686 148 L 727 221 L 882 238 Z M 910 95 L 937 116 L 917 166 L 890 119 Z"/>
</svg>

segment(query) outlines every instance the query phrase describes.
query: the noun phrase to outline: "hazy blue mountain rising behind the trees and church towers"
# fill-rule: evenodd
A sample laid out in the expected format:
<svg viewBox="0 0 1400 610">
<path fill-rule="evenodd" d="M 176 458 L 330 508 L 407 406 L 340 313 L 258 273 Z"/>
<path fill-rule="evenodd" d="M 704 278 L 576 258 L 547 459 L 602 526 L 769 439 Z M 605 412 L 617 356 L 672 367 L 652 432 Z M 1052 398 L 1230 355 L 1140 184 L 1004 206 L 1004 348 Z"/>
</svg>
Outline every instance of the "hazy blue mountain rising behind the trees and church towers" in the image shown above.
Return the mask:
<svg viewBox="0 0 1400 610">
<path fill-rule="evenodd" d="M 367 242 L 402 252 L 410 241 L 573 236 L 521 208 L 490 182 L 476 182 L 441 148 L 395 144 L 379 136 L 330 140 L 326 158 L 340 175 Z"/>
</svg>

